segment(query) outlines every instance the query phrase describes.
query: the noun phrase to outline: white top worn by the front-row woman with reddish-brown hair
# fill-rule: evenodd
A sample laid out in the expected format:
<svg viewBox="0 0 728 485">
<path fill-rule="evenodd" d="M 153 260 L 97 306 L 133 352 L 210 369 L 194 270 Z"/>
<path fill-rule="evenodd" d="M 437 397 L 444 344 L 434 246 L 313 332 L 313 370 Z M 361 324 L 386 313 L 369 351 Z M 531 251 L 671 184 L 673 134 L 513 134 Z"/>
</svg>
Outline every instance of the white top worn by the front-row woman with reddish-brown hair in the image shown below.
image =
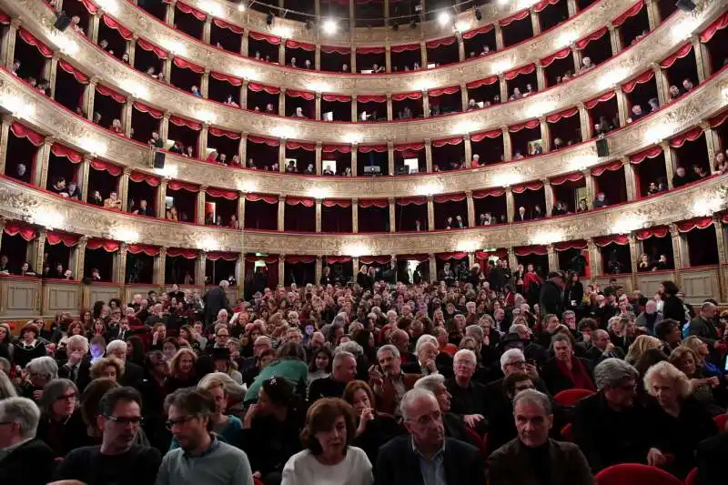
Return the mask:
<svg viewBox="0 0 728 485">
<path fill-rule="evenodd" d="M 364 450 L 350 446 L 337 465 L 322 465 L 310 450 L 299 451 L 283 468 L 281 485 L 372 485 L 374 476 Z"/>
</svg>

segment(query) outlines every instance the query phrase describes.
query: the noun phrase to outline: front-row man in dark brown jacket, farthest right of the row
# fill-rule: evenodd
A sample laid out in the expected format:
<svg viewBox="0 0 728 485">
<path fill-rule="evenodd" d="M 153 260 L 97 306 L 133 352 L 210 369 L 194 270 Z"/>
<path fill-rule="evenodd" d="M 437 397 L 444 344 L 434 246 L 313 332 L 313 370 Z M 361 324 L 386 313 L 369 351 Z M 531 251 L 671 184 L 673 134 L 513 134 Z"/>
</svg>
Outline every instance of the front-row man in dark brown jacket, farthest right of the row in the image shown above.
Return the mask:
<svg viewBox="0 0 728 485">
<path fill-rule="evenodd" d="M 490 483 L 594 485 L 589 463 L 573 443 L 550 440 L 551 399 L 525 389 L 513 399 L 518 438 L 490 455 Z"/>
</svg>

